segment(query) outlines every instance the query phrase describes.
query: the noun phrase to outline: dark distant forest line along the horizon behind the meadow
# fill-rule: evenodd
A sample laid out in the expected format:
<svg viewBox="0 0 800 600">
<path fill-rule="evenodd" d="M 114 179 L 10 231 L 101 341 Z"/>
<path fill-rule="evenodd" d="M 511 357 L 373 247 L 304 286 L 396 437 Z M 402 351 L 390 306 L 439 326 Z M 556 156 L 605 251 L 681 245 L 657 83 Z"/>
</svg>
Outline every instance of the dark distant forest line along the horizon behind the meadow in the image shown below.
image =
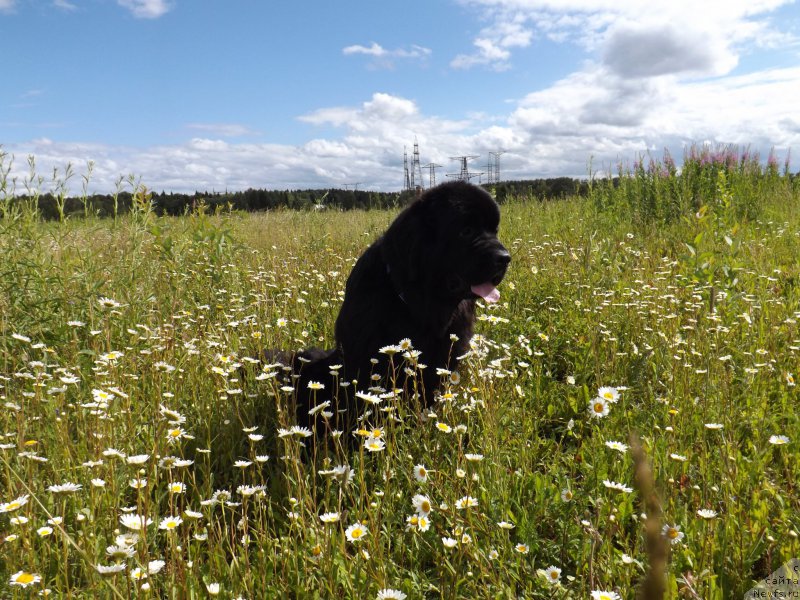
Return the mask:
<svg viewBox="0 0 800 600">
<path fill-rule="evenodd" d="M 511 197 L 535 200 L 559 199 L 583 195 L 588 189 L 585 181 L 569 177 L 502 181 L 483 187 L 489 189 L 500 203 Z M 152 210 L 159 215 L 182 215 L 195 210 L 199 205 L 204 205 L 212 212 L 216 210 L 254 212 L 280 208 L 320 210 L 323 207 L 333 210 L 370 210 L 402 206 L 415 195 L 410 191 L 371 192 L 341 189 L 249 189 L 242 192 L 195 192 L 193 194 L 153 192 L 148 194 Z M 127 191 L 117 194 L 92 194 L 85 197 L 67 198 L 59 198 L 45 193 L 35 198 L 16 196 L 5 200 L 11 205 L 20 203 L 30 206 L 35 202 L 38 205 L 39 214 L 44 219 L 58 219 L 60 216 L 59 206 L 62 207 L 64 216 L 91 214 L 109 217 L 114 216 L 115 213 L 122 215 L 129 212 L 136 201 L 134 193 Z"/>
</svg>

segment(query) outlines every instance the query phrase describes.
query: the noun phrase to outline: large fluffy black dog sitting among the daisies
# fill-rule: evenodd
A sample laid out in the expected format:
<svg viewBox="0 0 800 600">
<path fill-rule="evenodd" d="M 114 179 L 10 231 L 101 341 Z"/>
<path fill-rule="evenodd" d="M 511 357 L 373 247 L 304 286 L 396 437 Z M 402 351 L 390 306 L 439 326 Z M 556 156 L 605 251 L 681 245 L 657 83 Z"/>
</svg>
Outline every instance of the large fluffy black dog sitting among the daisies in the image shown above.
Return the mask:
<svg viewBox="0 0 800 600">
<path fill-rule="evenodd" d="M 394 384 L 403 387 L 413 377 L 421 405 L 433 401 L 441 381 L 437 368 L 451 369 L 456 357 L 469 349 L 475 301 L 495 302 L 500 296 L 496 286 L 511 258 L 497 239 L 499 223 L 492 197 L 464 182 L 428 190 L 397 216 L 347 279 L 336 319 L 336 347 L 312 348 L 293 357 L 293 369 L 300 374 L 300 425 L 310 426 L 317 418 L 309 416 L 312 404 L 331 400 L 329 426 L 351 427 L 362 412 L 354 392 L 376 384 L 391 387 L 386 377 L 390 359 L 380 350 L 404 339 L 419 352 L 416 361 L 425 368 L 402 367 L 398 353 L 392 357 Z M 339 382 L 358 380 L 357 385 L 332 389 L 332 368 Z M 325 389 L 310 392 L 311 381 L 324 383 Z"/>
</svg>

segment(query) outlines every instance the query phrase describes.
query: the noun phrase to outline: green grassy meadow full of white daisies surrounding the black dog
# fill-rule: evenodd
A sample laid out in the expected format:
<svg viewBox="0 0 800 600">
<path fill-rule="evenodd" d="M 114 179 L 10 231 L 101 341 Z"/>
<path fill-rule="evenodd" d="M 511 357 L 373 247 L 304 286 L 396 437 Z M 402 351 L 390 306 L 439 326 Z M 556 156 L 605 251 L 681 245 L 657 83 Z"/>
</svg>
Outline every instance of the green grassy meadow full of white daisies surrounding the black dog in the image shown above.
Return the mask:
<svg viewBox="0 0 800 600">
<path fill-rule="evenodd" d="M 0 598 L 743 597 L 800 557 L 800 182 L 685 160 L 506 203 L 471 352 L 430 411 L 361 383 L 355 451 L 262 350 L 394 213 L 0 209 Z"/>
</svg>

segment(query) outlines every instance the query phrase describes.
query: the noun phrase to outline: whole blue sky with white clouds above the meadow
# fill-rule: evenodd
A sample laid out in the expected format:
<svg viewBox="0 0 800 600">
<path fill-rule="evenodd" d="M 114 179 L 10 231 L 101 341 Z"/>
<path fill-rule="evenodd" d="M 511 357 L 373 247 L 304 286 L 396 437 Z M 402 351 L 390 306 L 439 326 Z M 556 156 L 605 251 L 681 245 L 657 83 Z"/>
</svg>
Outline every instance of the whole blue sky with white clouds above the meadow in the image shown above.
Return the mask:
<svg viewBox="0 0 800 600">
<path fill-rule="evenodd" d="M 692 143 L 800 169 L 789 0 L 0 0 L 0 39 L 18 185 L 33 155 L 93 161 L 99 191 L 391 191 L 415 139 L 439 180 L 455 155 L 585 176 Z"/>
</svg>

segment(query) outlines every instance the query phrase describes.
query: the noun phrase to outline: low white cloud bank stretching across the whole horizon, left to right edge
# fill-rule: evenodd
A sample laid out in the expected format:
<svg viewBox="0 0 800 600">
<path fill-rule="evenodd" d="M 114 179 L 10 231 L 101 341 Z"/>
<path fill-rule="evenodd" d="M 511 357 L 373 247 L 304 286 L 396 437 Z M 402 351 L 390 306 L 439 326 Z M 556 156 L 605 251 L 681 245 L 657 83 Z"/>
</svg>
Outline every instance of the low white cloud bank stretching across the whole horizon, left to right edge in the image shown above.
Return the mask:
<svg viewBox="0 0 800 600">
<path fill-rule="evenodd" d="M 470 168 L 482 171 L 488 152 L 497 150 L 506 151 L 504 179 L 581 177 L 590 158 L 595 169 L 613 170 L 620 161 L 645 152 L 660 155 L 665 147 L 678 158 L 684 145 L 706 140 L 749 145 L 762 156 L 774 146 L 785 156 L 789 148 L 800 147 L 797 89 L 800 67 L 681 82 L 675 74 L 622 77 L 605 65 L 587 63 L 527 95 L 505 115 L 445 119 L 426 114 L 412 99 L 376 93 L 360 105 L 301 116 L 334 133 L 299 145 L 234 142 L 201 125 L 195 130 L 203 136 L 145 149 L 40 139 L 5 150 L 17 157 L 11 175 L 18 186 L 27 174 L 24 157 L 33 154 L 42 174 L 67 162 L 80 173 L 87 160 L 95 161 L 93 189 L 103 192 L 129 173 L 155 190 L 287 189 L 360 181 L 363 188 L 394 191 L 402 187 L 403 149 L 410 154 L 415 139 L 423 164 L 443 165 L 438 181 L 458 171 L 451 157 L 479 155 Z M 792 169 L 798 168 L 795 158 Z M 73 183 L 79 192 L 79 180 Z"/>
</svg>

